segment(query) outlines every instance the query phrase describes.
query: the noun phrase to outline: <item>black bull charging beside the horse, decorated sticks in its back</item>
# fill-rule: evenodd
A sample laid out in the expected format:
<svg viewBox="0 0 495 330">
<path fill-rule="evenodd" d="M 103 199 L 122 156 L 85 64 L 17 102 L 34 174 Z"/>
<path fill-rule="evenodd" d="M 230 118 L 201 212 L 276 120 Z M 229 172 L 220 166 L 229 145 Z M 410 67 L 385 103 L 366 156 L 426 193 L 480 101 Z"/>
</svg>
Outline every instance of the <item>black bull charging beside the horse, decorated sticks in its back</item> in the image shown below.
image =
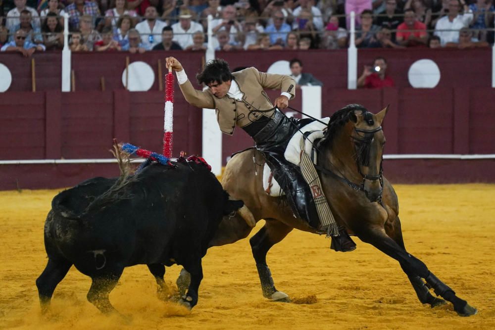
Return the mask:
<svg viewBox="0 0 495 330">
<path fill-rule="evenodd" d="M 165 266 L 182 265 L 191 284 L 181 303 L 198 302 L 206 254 L 222 217 L 242 207 L 202 164 L 152 164 L 136 176 L 94 178 L 62 191 L 45 223 L 48 264 L 36 281 L 46 311 L 56 285 L 74 265 L 92 278 L 88 300 L 115 311 L 110 291 L 125 267 L 146 264 L 161 289 Z"/>
</svg>

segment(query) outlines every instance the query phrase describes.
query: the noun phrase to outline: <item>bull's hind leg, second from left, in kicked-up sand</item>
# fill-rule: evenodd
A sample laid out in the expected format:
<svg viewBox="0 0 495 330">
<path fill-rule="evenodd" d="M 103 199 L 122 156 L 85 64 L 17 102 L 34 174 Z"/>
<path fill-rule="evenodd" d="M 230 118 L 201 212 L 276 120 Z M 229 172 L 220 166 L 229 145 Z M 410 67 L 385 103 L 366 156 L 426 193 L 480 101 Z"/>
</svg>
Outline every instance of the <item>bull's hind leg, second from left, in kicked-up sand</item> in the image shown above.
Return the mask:
<svg viewBox="0 0 495 330">
<path fill-rule="evenodd" d="M 99 274 L 92 277 L 93 283 L 91 284 L 87 298 L 88 301 L 95 305 L 101 313 L 118 313 L 110 303 L 108 295 L 110 294 L 110 291 L 113 290 L 115 285 L 117 285 L 123 271 L 124 268 L 122 267 L 119 269 L 114 269 L 111 272 L 105 272 L 104 275 Z"/>
</svg>

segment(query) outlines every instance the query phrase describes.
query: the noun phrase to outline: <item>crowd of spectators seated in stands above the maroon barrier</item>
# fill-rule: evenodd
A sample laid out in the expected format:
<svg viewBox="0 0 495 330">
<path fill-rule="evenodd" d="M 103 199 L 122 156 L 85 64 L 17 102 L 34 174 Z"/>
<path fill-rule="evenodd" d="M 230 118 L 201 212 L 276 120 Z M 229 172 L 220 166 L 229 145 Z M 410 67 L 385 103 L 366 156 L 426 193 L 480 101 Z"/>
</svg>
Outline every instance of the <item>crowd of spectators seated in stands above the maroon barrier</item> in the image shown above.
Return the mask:
<svg viewBox="0 0 495 330">
<path fill-rule="evenodd" d="M 471 2 L 465 2 L 471 1 Z M 494 0 L 0 0 L 1 50 L 217 50 L 487 47 Z M 24 38 L 24 39 L 23 39 Z M 21 43 L 22 41 L 22 43 Z"/>
</svg>

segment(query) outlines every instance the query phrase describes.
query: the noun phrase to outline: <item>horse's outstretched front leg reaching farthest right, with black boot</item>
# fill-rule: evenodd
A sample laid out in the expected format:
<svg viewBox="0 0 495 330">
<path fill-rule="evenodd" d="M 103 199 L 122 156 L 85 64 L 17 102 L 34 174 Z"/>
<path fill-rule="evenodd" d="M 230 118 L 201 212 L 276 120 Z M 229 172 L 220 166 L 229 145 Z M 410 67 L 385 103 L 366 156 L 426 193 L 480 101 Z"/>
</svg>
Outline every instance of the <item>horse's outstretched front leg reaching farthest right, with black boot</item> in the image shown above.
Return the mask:
<svg viewBox="0 0 495 330">
<path fill-rule="evenodd" d="M 360 228 L 356 231 L 356 234 L 363 242 L 372 244 L 380 251 L 396 259 L 406 274 L 425 279 L 426 283 L 434 289 L 437 295 L 452 303 L 454 310 L 460 316 L 470 316 L 478 312 L 476 308 L 471 307 L 465 300 L 457 297 L 455 292 L 430 272 L 421 260 L 400 247 L 385 233 L 383 227 Z"/>
</svg>

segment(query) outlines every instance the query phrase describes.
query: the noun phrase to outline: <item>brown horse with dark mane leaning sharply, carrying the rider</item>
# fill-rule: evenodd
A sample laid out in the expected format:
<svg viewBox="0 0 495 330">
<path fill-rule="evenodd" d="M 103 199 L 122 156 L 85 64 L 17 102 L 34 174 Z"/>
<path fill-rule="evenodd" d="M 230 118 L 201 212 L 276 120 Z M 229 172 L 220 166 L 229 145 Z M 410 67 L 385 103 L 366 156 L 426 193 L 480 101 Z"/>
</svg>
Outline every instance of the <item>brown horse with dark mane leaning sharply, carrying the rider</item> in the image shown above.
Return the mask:
<svg viewBox="0 0 495 330">
<path fill-rule="evenodd" d="M 422 304 L 433 308 L 449 301 L 458 315 L 474 315 L 476 308 L 457 297 L 404 246 L 397 195 L 382 173 L 386 141 L 381 125 L 387 111 L 388 107 L 373 114 L 362 105 L 347 105 L 331 116 L 324 137 L 315 143 L 318 153 L 315 168 L 330 209 L 337 224 L 345 227 L 349 235 L 357 236 L 399 262 Z M 293 229 L 322 233 L 296 217 L 287 203 L 281 203 L 281 197 L 265 193 L 260 175 L 264 164 L 262 153 L 255 148 L 235 154 L 227 163 L 222 186 L 231 198 L 244 201 L 256 222 L 265 220 L 265 225 L 249 240 L 263 296 L 274 301 L 290 301 L 286 293 L 275 288 L 266 254 Z M 252 230 L 248 223 L 239 214 L 224 219 L 209 245 L 220 246 L 247 237 Z M 182 271 L 177 280 L 179 291 L 184 290 L 187 282 L 187 273 Z M 434 297 L 430 288 L 443 299 Z"/>
</svg>

